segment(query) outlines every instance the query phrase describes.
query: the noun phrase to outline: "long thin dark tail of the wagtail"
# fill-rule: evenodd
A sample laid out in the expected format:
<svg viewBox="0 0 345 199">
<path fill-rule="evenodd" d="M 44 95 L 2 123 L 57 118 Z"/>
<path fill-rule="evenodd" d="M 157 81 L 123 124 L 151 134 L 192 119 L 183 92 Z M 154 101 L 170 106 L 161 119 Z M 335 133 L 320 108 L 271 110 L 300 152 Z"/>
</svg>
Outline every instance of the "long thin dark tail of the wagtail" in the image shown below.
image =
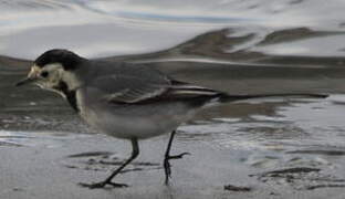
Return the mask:
<svg viewBox="0 0 345 199">
<path fill-rule="evenodd" d="M 311 97 L 311 98 L 326 98 L 326 94 L 313 94 L 313 93 L 291 93 L 291 94 L 258 94 L 258 95 L 229 95 L 227 93 L 218 94 L 219 102 L 228 103 L 234 101 L 245 101 L 250 98 L 265 98 L 265 97 Z"/>
</svg>

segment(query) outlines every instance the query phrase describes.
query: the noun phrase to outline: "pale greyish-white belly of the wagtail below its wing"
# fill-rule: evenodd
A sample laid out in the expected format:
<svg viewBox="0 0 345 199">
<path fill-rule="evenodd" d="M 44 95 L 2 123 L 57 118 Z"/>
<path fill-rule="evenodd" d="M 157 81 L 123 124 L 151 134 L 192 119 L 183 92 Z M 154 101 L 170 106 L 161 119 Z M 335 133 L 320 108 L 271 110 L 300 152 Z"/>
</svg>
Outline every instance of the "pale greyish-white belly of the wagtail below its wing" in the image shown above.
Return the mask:
<svg viewBox="0 0 345 199">
<path fill-rule="evenodd" d="M 81 104 L 84 102 L 81 102 Z M 83 104 L 81 116 L 91 126 L 117 138 L 145 139 L 175 130 L 194 115 L 182 103 L 108 106 Z"/>
</svg>

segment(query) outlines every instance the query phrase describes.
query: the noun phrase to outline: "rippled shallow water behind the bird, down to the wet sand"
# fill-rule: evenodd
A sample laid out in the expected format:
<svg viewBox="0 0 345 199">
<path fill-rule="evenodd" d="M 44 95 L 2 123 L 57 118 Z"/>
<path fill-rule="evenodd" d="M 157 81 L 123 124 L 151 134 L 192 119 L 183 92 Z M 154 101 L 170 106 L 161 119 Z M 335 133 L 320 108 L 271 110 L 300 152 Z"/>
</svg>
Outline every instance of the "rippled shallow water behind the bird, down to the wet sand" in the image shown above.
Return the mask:
<svg viewBox="0 0 345 199">
<path fill-rule="evenodd" d="M 59 147 L 95 132 L 54 94 L 12 87 L 30 60 L 64 48 L 234 94 L 331 93 L 206 109 L 179 128 L 178 142 L 230 150 L 258 170 L 342 169 L 344 8 L 341 0 L 1 1 L 0 146 Z"/>
</svg>

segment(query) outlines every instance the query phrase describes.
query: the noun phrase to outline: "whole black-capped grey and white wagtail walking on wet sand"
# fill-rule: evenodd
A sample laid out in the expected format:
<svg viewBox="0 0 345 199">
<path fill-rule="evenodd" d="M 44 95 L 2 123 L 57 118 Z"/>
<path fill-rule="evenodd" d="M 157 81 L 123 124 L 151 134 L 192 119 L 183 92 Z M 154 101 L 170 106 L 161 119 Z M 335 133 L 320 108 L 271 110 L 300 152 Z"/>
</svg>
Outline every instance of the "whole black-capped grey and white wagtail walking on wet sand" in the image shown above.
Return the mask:
<svg viewBox="0 0 345 199">
<path fill-rule="evenodd" d="M 87 124 L 109 136 L 132 142 L 132 156 L 104 181 L 82 184 L 88 188 L 126 187 L 112 179 L 138 156 L 138 139 L 171 133 L 164 159 L 165 182 L 168 184 L 169 159 L 188 154 L 170 155 L 176 128 L 210 102 L 286 95 L 325 97 L 318 94 L 229 95 L 176 81 L 140 64 L 92 61 L 56 49 L 40 55 L 28 77 L 17 85 L 27 83 L 58 92 Z"/>
</svg>

